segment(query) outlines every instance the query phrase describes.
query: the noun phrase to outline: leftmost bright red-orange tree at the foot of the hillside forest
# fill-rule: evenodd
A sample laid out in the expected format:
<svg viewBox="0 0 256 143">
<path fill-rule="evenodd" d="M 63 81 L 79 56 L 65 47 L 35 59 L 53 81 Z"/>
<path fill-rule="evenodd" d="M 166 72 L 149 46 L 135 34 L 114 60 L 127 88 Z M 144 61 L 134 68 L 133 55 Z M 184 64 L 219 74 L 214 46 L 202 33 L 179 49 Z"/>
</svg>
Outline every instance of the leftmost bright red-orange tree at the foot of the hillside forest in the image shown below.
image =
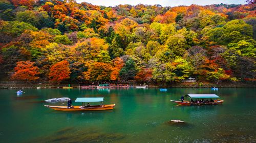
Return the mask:
<svg viewBox="0 0 256 143">
<path fill-rule="evenodd" d="M 39 79 L 36 75 L 39 74 L 39 68 L 34 66 L 35 62 L 18 61 L 14 68 L 15 73 L 12 75 L 12 80 L 34 81 Z"/>
</svg>

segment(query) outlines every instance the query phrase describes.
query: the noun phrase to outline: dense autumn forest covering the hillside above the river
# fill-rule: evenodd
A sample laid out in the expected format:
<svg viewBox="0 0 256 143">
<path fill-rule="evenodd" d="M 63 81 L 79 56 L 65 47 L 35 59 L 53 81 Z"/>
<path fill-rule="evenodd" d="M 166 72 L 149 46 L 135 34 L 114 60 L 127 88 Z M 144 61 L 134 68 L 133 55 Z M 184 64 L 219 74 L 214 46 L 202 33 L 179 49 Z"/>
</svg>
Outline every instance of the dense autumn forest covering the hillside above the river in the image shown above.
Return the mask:
<svg viewBox="0 0 256 143">
<path fill-rule="evenodd" d="M 0 80 L 255 81 L 256 4 L 0 1 Z"/>
</svg>

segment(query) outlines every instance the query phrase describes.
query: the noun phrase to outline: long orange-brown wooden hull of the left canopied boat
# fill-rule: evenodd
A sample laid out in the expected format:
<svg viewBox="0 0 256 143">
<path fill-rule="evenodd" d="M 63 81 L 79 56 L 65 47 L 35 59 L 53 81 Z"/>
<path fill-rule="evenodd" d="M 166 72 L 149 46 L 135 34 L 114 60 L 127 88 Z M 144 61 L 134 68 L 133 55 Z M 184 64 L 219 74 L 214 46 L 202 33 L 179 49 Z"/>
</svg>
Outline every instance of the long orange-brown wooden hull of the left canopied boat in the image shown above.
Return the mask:
<svg viewBox="0 0 256 143">
<path fill-rule="evenodd" d="M 58 111 L 95 111 L 95 110 L 112 110 L 115 107 L 115 104 L 94 105 L 94 106 L 83 107 L 83 108 L 81 108 L 81 106 L 72 106 L 72 108 L 67 108 L 67 106 L 50 106 L 50 105 L 45 105 L 45 106 Z"/>
</svg>

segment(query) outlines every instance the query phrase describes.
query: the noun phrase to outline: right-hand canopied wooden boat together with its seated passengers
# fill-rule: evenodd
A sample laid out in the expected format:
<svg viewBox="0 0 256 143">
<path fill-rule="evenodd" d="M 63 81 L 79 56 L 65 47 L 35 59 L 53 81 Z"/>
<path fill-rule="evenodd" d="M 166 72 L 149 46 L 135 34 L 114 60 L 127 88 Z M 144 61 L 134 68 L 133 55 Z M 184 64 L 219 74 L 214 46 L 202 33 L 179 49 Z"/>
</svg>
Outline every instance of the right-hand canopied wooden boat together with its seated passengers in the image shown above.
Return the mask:
<svg viewBox="0 0 256 143">
<path fill-rule="evenodd" d="M 181 101 L 170 100 L 179 105 L 217 105 L 222 104 L 224 100 L 219 100 L 216 94 L 186 94 L 185 99 Z M 189 98 L 189 99 L 187 99 Z M 210 99 L 210 100 L 208 100 Z"/>
</svg>

